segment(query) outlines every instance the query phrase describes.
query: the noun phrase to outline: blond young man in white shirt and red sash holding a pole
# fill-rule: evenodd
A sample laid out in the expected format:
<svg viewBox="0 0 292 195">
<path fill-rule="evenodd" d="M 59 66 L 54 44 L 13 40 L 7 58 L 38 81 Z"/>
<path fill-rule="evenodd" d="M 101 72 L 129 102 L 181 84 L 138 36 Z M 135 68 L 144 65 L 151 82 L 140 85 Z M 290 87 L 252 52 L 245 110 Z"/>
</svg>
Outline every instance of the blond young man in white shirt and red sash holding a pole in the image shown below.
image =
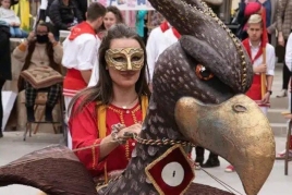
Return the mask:
<svg viewBox="0 0 292 195">
<path fill-rule="evenodd" d="M 272 94 L 271 85 L 275 75 L 276 53 L 273 46 L 267 42 L 265 33 L 266 26 L 264 26 L 263 16 L 253 14 L 247 22 L 248 38 L 243 40 L 242 44 L 252 60 L 254 72 L 253 83 L 246 96 L 253 99 L 261 111 L 267 114 L 270 95 Z M 266 49 L 264 50 L 264 48 Z M 266 75 L 265 84 L 261 84 L 261 74 Z M 267 89 L 265 95 L 261 94 L 261 87 L 266 87 Z M 231 164 L 226 168 L 226 172 L 233 171 L 234 167 Z"/>
</svg>

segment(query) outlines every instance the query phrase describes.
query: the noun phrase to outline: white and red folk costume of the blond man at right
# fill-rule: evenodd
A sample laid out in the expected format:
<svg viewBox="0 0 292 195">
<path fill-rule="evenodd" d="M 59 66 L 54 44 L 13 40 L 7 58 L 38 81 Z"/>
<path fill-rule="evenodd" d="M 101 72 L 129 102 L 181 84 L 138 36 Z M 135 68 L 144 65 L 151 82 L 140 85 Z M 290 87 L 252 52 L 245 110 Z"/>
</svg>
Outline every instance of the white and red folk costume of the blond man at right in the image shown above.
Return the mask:
<svg viewBox="0 0 292 195">
<path fill-rule="evenodd" d="M 268 44 L 268 36 L 266 31 L 266 13 L 265 9 L 261 8 L 261 21 L 263 21 L 263 35 L 261 35 L 261 42 L 254 47 L 252 46 L 248 38 L 243 40 L 243 46 L 246 49 L 253 66 L 258 66 L 263 63 L 267 64 L 266 75 L 275 75 L 275 62 L 276 62 L 276 53 L 275 48 Z M 263 52 L 266 52 L 265 54 Z M 264 59 L 266 57 L 266 59 Z M 246 95 L 255 100 L 257 105 L 260 107 L 263 112 L 267 114 L 269 103 L 261 103 L 261 99 L 264 98 L 261 95 L 261 87 L 266 87 L 266 84 L 261 84 L 261 74 L 255 73 L 253 78 L 253 84 Z M 271 92 L 270 92 L 271 93 Z"/>
</svg>

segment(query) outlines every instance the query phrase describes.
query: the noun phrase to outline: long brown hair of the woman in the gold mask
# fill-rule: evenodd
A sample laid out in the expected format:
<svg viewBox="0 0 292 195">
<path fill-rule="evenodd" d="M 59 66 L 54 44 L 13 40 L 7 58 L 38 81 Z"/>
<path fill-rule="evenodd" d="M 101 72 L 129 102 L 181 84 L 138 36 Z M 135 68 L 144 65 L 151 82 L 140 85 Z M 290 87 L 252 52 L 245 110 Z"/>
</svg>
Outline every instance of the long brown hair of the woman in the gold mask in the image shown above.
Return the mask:
<svg viewBox="0 0 292 195">
<path fill-rule="evenodd" d="M 145 48 L 144 41 L 131 27 L 124 24 L 117 24 L 108 31 L 108 33 L 104 37 L 101 45 L 99 47 L 99 52 L 98 52 L 99 81 L 97 85 L 94 87 L 86 88 L 82 90 L 81 93 L 78 93 L 76 96 L 74 96 L 69 110 L 71 110 L 72 106 L 75 105 L 75 102 L 78 99 L 81 100 L 81 102 L 78 103 L 78 107 L 73 110 L 74 112 L 80 112 L 82 108 L 84 108 L 85 106 L 87 106 L 88 103 L 93 101 L 98 101 L 100 102 L 99 105 L 109 105 L 112 101 L 112 98 L 113 98 L 112 80 L 109 75 L 109 71 L 106 70 L 107 62 L 106 62 L 105 56 L 106 56 L 106 51 L 110 49 L 111 40 L 117 39 L 117 38 L 131 38 L 139 42 L 141 48 L 144 51 L 144 66 L 141 70 L 141 74 L 139 74 L 138 81 L 136 82 L 135 89 L 139 98 L 143 95 L 150 97 L 150 90 L 148 88 L 148 83 L 147 83 L 147 77 L 149 77 L 149 70 L 148 70 L 148 65 L 146 62 L 147 56 L 146 56 L 146 48 Z"/>
</svg>

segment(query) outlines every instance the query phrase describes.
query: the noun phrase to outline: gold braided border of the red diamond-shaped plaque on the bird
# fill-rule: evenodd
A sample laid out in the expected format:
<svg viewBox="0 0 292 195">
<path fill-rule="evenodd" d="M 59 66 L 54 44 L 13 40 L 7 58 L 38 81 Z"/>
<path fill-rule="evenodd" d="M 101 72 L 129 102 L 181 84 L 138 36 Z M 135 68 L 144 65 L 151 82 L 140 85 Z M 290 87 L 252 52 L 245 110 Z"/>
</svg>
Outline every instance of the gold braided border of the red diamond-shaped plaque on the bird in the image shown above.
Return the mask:
<svg viewBox="0 0 292 195">
<path fill-rule="evenodd" d="M 187 160 L 188 164 L 191 167 L 193 167 L 193 163 L 191 162 L 190 158 L 187 157 L 187 155 L 185 154 L 184 149 L 182 148 L 181 145 L 175 144 L 174 146 L 172 146 L 171 148 L 169 148 L 163 155 L 161 155 L 160 157 L 158 157 L 156 160 L 154 160 L 151 163 L 149 163 L 146 168 L 145 168 L 145 173 L 148 176 L 148 179 L 151 181 L 151 183 L 154 184 L 155 188 L 157 190 L 157 192 L 159 193 L 159 195 L 166 195 L 163 193 L 163 191 L 160 188 L 160 186 L 156 183 L 156 181 L 154 180 L 154 178 L 151 176 L 151 174 L 149 173 L 149 170 L 156 164 L 158 163 L 160 160 L 162 160 L 163 158 L 166 158 L 171 151 L 173 151 L 174 149 L 180 148 L 180 150 L 182 151 L 184 158 Z M 194 172 L 194 170 L 193 170 Z M 192 178 L 192 181 L 195 179 L 195 173 Z M 192 182 L 188 183 L 188 185 L 183 190 L 183 192 L 181 192 L 181 194 L 185 194 L 185 192 L 187 191 L 187 188 L 190 187 L 190 185 L 192 184 Z"/>
</svg>

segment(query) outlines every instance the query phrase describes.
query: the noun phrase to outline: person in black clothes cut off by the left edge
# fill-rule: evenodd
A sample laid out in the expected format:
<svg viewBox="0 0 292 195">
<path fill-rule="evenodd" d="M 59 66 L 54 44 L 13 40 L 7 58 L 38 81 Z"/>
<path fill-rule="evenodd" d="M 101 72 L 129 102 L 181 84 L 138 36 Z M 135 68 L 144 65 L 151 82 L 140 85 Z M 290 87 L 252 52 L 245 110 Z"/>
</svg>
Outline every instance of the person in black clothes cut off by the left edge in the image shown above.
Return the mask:
<svg viewBox="0 0 292 195">
<path fill-rule="evenodd" d="M 10 53 L 10 29 L 5 24 L 0 24 L 0 89 L 7 80 L 12 80 L 11 73 L 11 53 Z M 0 138 L 2 134 L 2 119 L 3 119 L 3 106 L 2 106 L 2 93 L 0 92 Z"/>
</svg>

